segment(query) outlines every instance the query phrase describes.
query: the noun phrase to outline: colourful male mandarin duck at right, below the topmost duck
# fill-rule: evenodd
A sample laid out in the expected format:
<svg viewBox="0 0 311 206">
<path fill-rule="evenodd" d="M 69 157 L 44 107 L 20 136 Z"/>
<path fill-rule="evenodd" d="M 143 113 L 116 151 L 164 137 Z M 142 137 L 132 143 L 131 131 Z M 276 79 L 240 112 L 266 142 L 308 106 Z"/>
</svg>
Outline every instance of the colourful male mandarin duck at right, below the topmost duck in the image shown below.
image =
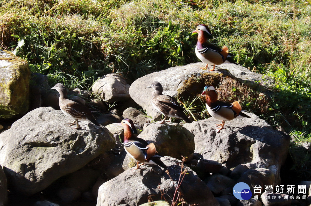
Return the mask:
<svg viewBox="0 0 311 206">
<path fill-rule="evenodd" d="M 218 119 L 221 120 L 222 123 L 217 125 L 220 126 L 217 132 L 219 132 L 225 125 L 225 121 L 230 121 L 235 118 L 251 118 L 248 115 L 241 112 L 242 108 L 238 101 L 235 101 L 234 103 L 226 103 L 217 100 L 218 95 L 215 90 L 215 88 L 211 85 L 207 85 L 204 87 L 204 91 L 201 95 L 206 95 L 206 107 L 208 113 Z"/>
</svg>

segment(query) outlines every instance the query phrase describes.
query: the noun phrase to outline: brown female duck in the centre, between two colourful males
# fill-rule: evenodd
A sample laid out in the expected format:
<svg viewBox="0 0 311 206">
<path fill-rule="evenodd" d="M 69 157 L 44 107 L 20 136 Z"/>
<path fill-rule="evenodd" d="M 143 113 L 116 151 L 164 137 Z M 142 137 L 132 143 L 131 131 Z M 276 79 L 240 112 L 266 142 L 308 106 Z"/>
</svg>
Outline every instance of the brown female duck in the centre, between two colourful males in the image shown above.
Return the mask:
<svg viewBox="0 0 311 206">
<path fill-rule="evenodd" d="M 155 81 L 152 82 L 150 86 L 147 88 L 152 88 L 154 89 L 154 92 L 152 93 L 152 105 L 156 110 L 161 112 L 164 115 L 164 119 L 162 121 L 157 121 L 157 124 L 163 124 L 165 121 L 166 117 L 169 117 L 169 121 L 171 122 L 172 117 L 177 117 L 179 119 L 183 119 L 187 123 L 191 123 L 192 121 L 188 119 L 186 114 L 184 113 L 186 110 L 179 105 L 176 100 L 169 96 L 162 94 L 163 92 L 163 87 L 160 84 L 160 82 Z"/>
</svg>

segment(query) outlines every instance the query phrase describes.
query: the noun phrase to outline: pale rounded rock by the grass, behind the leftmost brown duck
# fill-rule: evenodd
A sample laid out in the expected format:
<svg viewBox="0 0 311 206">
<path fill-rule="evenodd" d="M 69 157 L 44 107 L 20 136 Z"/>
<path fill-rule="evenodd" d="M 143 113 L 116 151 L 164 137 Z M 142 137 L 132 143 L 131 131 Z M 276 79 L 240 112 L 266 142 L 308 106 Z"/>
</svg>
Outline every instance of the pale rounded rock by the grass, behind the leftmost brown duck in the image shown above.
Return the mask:
<svg viewBox="0 0 311 206">
<path fill-rule="evenodd" d="M 93 84 L 92 91 L 104 100 L 113 103 L 128 100 L 130 98 L 129 87 L 130 85 L 121 75 L 107 74 Z"/>
</svg>

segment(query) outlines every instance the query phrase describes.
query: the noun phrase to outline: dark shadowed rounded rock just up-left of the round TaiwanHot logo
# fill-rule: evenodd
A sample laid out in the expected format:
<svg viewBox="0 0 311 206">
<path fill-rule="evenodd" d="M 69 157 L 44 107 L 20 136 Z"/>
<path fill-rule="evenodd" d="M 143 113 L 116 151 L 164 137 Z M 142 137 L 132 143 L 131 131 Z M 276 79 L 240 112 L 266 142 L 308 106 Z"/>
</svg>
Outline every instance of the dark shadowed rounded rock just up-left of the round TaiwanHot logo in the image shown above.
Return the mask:
<svg viewBox="0 0 311 206">
<path fill-rule="evenodd" d="M 220 194 L 221 191 L 225 190 L 228 187 L 233 187 L 235 185 L 235 181 L 231 178 L 221 175 L 215 174 L 208 178 L 207 186 L 214 194 Z"/>
</svg>

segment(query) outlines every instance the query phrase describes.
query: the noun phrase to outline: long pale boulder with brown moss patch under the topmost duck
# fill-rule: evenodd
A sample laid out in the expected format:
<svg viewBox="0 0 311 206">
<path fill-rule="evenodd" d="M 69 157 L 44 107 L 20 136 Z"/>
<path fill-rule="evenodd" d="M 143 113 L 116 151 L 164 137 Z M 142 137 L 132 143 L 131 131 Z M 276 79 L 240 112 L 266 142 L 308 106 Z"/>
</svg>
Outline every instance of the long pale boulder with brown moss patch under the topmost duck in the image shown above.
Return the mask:
<svg viewBox="0 0 311 206">
<path fill-rule="evenodd" d="M 159 112 L 151 104 L 153 89 L 146 88 L 154 81 L 161 83 L 164 90 L 163 94 L 172 97 L 183 96 L 186 99 L 189 96 L 195 97 L 197 94 L 201 94 L 202 89 L 207 84 L 218 84 L 223 74 L 249 85 L 256 85 L 254 81 L 264 81 L 262 75 L 251 72 L 239 65 L 222 64 L 218 66 L 216 71 L 212 72 L 200 69 L 199 67 L 202 66 L 205 66 L 205 64 L 200 62 L 153 72 L 135 80 L 129 89 L 129 94 L 137 104 L 147 111 L 148 116 L 154 118 L 157 117 Z M 193 84 L 189 85 L 188 80 L 191 77 L 195 77 L 195 80 Z M 273 83 L 271 79 L 265 79 L 265 82 L 268 84 Z M 185 84 L 187 84 L 186 88 Z"/>
</svg>

